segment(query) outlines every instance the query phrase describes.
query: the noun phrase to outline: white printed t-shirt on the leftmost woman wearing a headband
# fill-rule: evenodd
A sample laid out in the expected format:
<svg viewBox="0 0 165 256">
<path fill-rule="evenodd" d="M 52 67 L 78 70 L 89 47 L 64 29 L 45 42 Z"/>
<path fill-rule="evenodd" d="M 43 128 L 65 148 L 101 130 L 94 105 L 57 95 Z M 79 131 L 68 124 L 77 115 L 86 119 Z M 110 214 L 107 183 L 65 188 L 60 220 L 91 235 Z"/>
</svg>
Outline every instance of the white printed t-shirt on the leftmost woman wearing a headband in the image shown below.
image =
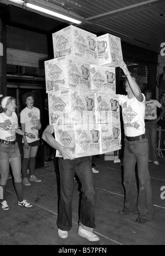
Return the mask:
<svg viewBox="0 0 165 256">
<path fill-rule="evenodd" d="M 7 116 L 4 113 L 0 113 L 0 122 L 5 122 L 6 120 L 10 120 L 9 129 L 4 130 L 0 127 L 0 138 L 5 141 L 14 141 L 16 138 L 15 130 L 18 129 L 18 117 L 15 112 L 12 112 L 12 116 Z"/>
</svg>

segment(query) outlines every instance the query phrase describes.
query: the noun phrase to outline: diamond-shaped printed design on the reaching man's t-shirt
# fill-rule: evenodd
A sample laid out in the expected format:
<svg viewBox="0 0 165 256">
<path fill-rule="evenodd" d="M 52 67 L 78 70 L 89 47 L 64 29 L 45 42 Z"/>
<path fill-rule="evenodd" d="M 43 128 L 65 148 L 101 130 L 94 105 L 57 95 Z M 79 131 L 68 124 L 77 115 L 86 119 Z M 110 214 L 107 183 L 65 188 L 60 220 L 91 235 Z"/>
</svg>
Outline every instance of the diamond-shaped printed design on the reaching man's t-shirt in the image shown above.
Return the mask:
<svg viewBox="0 0 165 256">
<path fill-rule="evenodd" d="M 124 127 L 133 127 L 135 129 L 139 129 L 138 121 L 132 122 L 133 119 L 136 117 L 137 113 L 131 108 L 131 106 L 127 107 L 127 103 L 124 103 L 126 106 L 125 110 L 123 111 L 123 118 L 127 123 L 124 122 Z"/>
</svg>

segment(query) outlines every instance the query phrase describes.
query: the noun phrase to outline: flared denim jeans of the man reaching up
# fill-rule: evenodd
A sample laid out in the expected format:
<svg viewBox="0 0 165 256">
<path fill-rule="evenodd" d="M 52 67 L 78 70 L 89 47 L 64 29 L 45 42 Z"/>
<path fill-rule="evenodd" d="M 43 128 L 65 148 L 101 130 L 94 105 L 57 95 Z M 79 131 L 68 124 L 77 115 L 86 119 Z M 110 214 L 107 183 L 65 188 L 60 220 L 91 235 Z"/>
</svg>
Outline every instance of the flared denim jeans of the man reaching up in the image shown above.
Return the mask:
<svg viewBox="0 0 165 256">
<path fill-rule="evenodd" d="M 124 140 L 124 210 L 139 212 L 139 217 L 150 220 L 153 216 L 152 189 L 149 174 L 149 145 L 144 138 L 139 141 Z M 138 165 L 138 183 L 135 165 Z"/>
</svg>

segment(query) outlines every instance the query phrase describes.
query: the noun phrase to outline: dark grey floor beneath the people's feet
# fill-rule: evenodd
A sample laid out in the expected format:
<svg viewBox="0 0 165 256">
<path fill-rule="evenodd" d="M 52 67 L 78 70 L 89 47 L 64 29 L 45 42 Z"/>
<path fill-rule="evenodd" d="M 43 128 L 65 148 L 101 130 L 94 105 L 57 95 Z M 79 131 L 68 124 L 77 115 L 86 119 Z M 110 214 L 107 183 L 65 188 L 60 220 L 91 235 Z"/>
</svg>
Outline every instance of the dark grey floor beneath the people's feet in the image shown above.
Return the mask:
<svg viewBox="0 0 165 256">
<path fill-rule="evenodd" d="M 31 209 L 17 204 L 12 178 L 7 183 L 9 211 L 0 209 L 1 245 L 164 245 L 165 244 L 165 159 L 159 158 L 160 166 L 149 163 L 153 190 L 155 216 L 152 221 L 136 223 L 137 215 L 119 215 L 124 202 L 122 185 L 123 170 L 119 163 L 105 161 L 104 156 L 95 159 L 94 174 L 97 190 L 96 229 L 98 242 L 89 242 L 78 236 L 79 182 L 75 180 L 73 199 L 73 227 L 67 239 L 57 234 L 59 174 L 53 162 L 36 169 L 41 183 L 24 186 L 24 198 L 33 203 Z M 162 186 L 164 186 L 161 191 Z M 162 188 L 163 189 L 163 188 Z M 162 199 L 161 199 L 162 193 Z M 164 196 L 163 196 L 164 195 Z"/>
</svg>

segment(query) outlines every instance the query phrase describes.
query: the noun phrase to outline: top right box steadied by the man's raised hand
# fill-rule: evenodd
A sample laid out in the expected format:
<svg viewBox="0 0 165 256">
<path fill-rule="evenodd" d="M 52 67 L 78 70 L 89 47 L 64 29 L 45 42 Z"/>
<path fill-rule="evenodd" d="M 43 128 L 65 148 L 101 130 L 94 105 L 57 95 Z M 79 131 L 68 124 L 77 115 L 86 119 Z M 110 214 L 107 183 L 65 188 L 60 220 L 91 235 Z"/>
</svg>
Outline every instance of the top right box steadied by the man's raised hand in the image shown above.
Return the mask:
<svg viewBox="0 0 165 256">
<path fill-rule="evenodd" d="M 105 34 L 97 37 L 98 65 L 118 67 L 123 60 L 121 40 L 117 36 Z"/>
</svg>

